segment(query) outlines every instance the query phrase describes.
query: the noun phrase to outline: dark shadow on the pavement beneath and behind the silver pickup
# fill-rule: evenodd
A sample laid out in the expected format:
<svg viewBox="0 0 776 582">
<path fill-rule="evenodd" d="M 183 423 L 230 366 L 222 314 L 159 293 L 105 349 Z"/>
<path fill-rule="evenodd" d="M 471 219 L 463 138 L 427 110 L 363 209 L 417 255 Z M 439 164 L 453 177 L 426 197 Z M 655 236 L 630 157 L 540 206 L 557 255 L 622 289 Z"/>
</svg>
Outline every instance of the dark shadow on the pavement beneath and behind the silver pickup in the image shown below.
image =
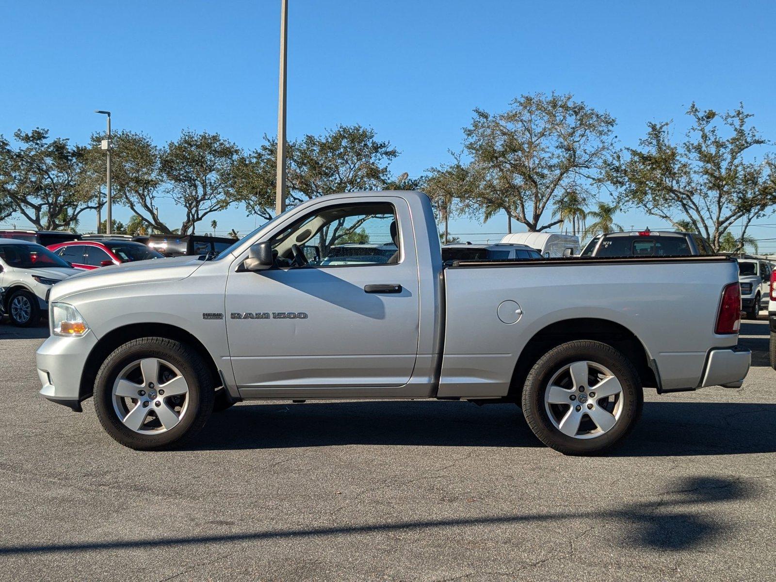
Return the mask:
<svg viewBox="0 0 776 582">
<path fill-rule="evenodd" d="M 366 401 L 238 404 L 213 414 L 193 450 L 341 445 L 544 446 L 514 404 Z M 611 456 L 776 452 L 776 404 L 646 402 Z"/>
</svg>

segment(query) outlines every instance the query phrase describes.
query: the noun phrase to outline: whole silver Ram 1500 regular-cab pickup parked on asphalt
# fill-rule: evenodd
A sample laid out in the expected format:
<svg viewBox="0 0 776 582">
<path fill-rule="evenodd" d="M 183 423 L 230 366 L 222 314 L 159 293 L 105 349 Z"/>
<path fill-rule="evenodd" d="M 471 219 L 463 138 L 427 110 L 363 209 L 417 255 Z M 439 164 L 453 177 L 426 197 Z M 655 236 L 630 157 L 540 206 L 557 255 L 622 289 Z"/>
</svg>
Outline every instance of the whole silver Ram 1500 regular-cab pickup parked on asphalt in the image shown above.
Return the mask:
<svg viewBox="0 0 776 582">
<path fill-rule="evenodd" d="M 77 411 L 93 395 L 133 449 L 238 400 L 435 398 L 518 404 L 546 445 L 586 454 L 629 432 L 643 387 L 740 386 L 750 365 L 734 260 L 444 267 L 421 192 L 313 199 L 216 257 L 100 268 L 50 300 L 40 393 Z"/>
</svg>

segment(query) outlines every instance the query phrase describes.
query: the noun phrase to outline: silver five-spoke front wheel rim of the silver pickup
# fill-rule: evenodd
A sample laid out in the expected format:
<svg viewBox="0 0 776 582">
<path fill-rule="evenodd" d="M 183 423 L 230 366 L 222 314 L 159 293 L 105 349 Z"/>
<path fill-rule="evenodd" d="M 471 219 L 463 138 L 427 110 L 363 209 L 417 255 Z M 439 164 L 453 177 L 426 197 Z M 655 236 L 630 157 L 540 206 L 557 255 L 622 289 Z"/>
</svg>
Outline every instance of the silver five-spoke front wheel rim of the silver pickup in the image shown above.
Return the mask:
<svg viewBox="0 0 776 582">
<path fill-rule="evenodd" d="M 170 362 L 144 358 L 126 365 L 113 383 L 113 410 L 140 435 L 174 428 L 189 409 L 189 384 Z"/>
</svg>

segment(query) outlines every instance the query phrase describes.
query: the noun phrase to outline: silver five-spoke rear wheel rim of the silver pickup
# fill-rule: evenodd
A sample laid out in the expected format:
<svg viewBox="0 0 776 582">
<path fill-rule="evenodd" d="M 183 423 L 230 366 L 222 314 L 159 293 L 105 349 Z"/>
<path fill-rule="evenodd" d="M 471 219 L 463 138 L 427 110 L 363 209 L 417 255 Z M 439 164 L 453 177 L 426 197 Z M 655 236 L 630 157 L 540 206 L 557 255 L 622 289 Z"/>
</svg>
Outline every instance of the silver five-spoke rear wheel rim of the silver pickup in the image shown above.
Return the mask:
<svg viewBox="0 0 776 582">
<path fill-rule="evenodd" d="M 597 362 L 572 362 L 547 383 L 544 407 L 549 421 L 566 436 L 598 438 L 622 415 L 622 384 Z"/>
</svg>

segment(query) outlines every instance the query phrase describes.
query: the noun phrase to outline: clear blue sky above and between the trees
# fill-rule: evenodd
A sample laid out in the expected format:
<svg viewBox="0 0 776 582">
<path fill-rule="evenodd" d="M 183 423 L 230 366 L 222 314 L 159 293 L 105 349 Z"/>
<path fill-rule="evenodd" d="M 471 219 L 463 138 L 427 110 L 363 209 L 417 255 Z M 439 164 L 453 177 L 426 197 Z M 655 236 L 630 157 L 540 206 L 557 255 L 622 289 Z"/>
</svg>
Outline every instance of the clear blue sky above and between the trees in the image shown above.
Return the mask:
<svg viewBox="0 0 776 582">
<path fill-rule="evenodd" d="M 474 107 L 554 89 L 608 110 L 625 145 L 647 120 L 683 131 L 693 100 L 743 101 L 776 140 L 774 25 L 774 2 L 289 0 L 289 138 L 362 123 L 402 152 L 393 171 L 417 175 L 459 147 Z M 42 126 L 82 143 L 104 125 L 92 110 L 110 109 L 114 128 L 159 143 L 188 127 L 255 147 L 276 131 L 278 42 L 279 0 L 4 2 L 0 133 Z M 217 220 L 254 224 L 237 208 Z M 620 222 L 660 226 L 638 213 Z M 497 217 L 452 230 L 484 240 L 505 228 Z"/>
</svg>

